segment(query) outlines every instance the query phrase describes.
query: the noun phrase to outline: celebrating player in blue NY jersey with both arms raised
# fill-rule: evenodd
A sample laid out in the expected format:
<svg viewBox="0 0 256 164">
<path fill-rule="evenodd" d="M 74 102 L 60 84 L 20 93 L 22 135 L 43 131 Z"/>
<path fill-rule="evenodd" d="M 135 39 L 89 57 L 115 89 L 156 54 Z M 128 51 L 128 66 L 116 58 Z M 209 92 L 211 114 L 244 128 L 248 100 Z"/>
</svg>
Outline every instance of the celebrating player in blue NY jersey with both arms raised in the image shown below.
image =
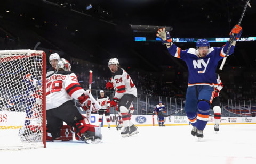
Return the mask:
<svg viewBox="0 0 256 164">
<path fill-rule="evenodd" d="M 235 41 L 232 43 L 228 55 L 234 52 L 236 40 L 241 34 L 242 27 L 235 25 L 229 33 L 230 37 L 235 35 Z M 196 49 L 182 50 L 173 44 L 170 33 L 165 31 L 165 28 L 159 29 L 156 36 L 161 38 L 172 56 L 182 59 L 187 64 L 189 77 L 185 111 L 193 126 L 191 134 L 200 140 L 204 137 L 203 130 L 209 119 L 209 109 L 215 93 L 214 86 L 217 85 L 215 71 L 218 62 L 225 57 L 229 41 L 222 47 L 210 47 L 209 41 L 198 39 Z"/>
</svg>

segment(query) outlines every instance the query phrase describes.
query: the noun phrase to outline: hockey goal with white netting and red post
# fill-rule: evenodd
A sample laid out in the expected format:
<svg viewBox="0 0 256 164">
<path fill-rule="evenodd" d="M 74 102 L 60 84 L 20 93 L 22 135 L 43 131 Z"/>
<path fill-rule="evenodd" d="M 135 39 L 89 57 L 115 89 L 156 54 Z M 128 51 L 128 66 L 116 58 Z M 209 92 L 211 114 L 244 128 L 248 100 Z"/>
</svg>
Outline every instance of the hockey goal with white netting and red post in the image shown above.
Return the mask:
<svg viewBox="0 0 256 164">
<path fill-rule="evenodd" d="M 45 147 L 44 51 L 0 51 L 0 69 L 0 150 Z"/>
</svg>

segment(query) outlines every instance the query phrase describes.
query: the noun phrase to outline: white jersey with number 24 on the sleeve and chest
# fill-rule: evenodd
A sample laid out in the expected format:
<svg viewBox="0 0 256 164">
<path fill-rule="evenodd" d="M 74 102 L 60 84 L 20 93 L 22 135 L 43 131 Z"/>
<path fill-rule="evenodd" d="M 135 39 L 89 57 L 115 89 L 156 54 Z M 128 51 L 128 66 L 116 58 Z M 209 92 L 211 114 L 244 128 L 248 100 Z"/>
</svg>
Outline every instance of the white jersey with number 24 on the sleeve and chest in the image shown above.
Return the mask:
<svg viewBox="0 0 256 164">
<path fill-rule="evenodd" d="M 121 99 L 124 94 L 133 94 L 137 97 L 137 88 L 135 87 L 135 84 L 128 73 L 122 68 L 119 68 L 112 75 L 112 82 L 116 91 L 115 98 Z"/>
</svg>

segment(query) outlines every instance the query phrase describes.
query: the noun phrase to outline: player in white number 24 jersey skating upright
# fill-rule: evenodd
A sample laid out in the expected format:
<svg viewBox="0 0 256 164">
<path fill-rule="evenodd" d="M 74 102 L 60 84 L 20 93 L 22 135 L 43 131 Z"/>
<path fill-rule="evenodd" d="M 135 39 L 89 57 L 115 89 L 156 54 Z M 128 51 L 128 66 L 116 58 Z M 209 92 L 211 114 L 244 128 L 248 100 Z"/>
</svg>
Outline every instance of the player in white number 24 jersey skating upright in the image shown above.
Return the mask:
<svg viewBox="0 0 256 164">
<path fill-rule="evenodd" d="M 129 74 L 120 67 L 117 58 L 111 58 L 108 67 L 112 72 L 111 83 L 115 88 L 115 96 L 110 102 L 110 107 L 116 107 L 118 103 L 118 110 L 121 112 L 124 125 L 121 135 L 122 137 L 129 137 L 139 132 L 128 113 L 128 108 L 134 98 L 137 97 L 137 88 Z"/>
</svg>

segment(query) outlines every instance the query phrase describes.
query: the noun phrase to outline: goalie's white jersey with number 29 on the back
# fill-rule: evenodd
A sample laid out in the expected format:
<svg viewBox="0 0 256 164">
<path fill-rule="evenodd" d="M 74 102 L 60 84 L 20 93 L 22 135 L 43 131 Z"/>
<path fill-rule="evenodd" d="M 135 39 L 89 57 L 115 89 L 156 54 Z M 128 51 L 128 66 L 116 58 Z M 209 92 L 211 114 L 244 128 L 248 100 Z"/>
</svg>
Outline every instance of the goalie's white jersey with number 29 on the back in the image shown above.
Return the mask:
<svg viewBox="0 0 256 164">
<path fill-rule="evenodd" d="M 46 78 L 46 110 L 57 108 L 72 98 L 77 100 L 83 93 L 87 96 L 89 90 L 81 87 L 73 72 L 55 72 Z"/>
</svg>

